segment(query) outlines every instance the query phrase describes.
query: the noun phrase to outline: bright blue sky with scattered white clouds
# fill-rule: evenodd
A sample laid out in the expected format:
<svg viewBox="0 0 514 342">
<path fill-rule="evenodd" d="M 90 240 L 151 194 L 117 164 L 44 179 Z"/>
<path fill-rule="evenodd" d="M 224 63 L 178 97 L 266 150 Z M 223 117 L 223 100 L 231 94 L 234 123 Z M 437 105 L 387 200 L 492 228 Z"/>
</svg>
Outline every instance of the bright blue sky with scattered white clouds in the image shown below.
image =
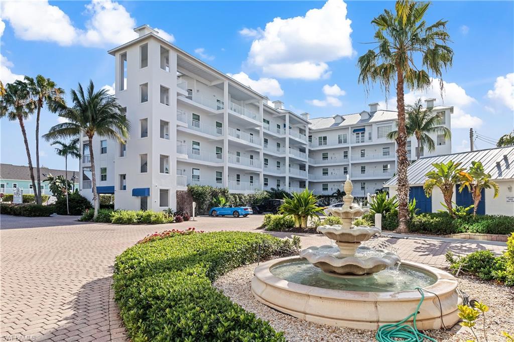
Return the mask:
<svg viewBox="0 0 514 342">
<path fill-rule="evenodd" d="M 0 77 L 43 74 L 67 92 L 92 79 L 114 83 L 114 58 L 106 51 L 132 39 L 142 24 L 215 68 L 311 117 L 346 114 L 386 101 L 379 86 L 357 83 L 357 58 L 371 42 L 372 18 L 393 2 L 3 2 Z M 317 10 L 316 10 L 317 9 Z M 448 21 L 455 55 L 444 73 L 445 104 L 455 106 L 452 149 L 469 146 L 469 128 L 494 140 L 514 127 L 514 3 L 434 2 L 426 20 Z M 272 48 L 270 48 L 272 47 Z M 270 51 L 272 53 L 270 53 Z M 436 83 L 436 81 L 434 81 Z M 337 85 L 337 87 L 335 87 Z M 406 89 L 407 102 L 438 90 Z M 44 112 L 41 131 L 58 123 Z M 1 120 L 3 163 L 27 164 L 20 127 Z M 27 122 L 31 142 L 34 120 Z M 31 144 L 33 150 L 33 143 Z M 479 148 L 491 147 L 476 140 Z M 63 168 L 46 142 L 41 163 Z M 70 169 L 78 169 L 71 163 Z"/>
</svg>

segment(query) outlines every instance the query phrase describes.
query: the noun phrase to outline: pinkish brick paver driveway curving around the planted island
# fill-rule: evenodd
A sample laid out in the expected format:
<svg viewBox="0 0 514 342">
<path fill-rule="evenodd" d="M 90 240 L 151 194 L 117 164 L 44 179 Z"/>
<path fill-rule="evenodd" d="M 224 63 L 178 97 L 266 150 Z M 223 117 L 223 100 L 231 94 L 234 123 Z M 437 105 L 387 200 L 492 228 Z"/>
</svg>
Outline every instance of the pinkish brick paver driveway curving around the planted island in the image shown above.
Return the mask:
<svg viewBox="0 0 514 342">
<path fill-rule="evenodd" d="M 4 340 L 124 340 L 112 300 L 114 258 L 144 236 L 165 229 L 255 231 L 262 216 L 200 217 L 173 225 L 84 224 L 68 217 L 16 218 L 3 215 L 1 329 Z M 58 222 L 52 226 L 52 222 Z M 37 227 L 42 225 L 43 227 Z M 17 227 L 23 227 L 17 229 Z M 289 233 L 275 233 L 284 237 Z M 301 234 L 302 245 L 321 245 L 324 237 Z M 500 252 L 502 245 L 455 243 L 453 240 L 383 238 L 403 259 L 442 267 L 448 249 Z"/>
</svg>

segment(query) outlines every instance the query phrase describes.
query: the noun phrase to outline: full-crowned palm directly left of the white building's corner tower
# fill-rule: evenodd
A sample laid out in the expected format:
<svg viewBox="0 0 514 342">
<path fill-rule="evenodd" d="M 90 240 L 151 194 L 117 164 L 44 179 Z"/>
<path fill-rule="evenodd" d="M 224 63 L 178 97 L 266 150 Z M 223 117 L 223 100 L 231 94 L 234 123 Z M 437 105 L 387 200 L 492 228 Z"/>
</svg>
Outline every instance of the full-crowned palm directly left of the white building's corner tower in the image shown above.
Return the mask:
<svg viewBox="0 0 514 342">
<path fill-rule="evenodd" d="M 45 140 L 58 138 L 75 138 L 84 132 L 89 142 L 89 158 L 91 160 L 91 176 L 93 181 L 93 201 L 95 217 L 98 215 L 98 194 L 96 187 L 95 155 L 93 153 L 93 137 L 107 137 L 125 142 L 128 139 L 130 122 L 122 114 L 122 108 L 116 98 L 105 89 L 95 91 L 93 81 L 89 81 L 86 91 L 79 83 L 77 90 L 71 90 L 72 107 L 57 105 L 59 116 L 67 122 L 50 128 L 43 136 Z"/>
</svg>

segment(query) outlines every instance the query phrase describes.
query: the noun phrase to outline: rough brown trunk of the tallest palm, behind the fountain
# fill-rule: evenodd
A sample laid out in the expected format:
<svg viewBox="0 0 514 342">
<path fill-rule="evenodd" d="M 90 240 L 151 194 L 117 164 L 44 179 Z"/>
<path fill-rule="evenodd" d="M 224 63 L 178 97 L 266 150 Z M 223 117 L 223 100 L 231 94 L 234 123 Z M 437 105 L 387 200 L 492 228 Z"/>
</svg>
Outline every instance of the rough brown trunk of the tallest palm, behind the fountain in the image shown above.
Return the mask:
<svg viewBox="0 0 514 342">
<path fill-rule="evenodd" d="M 396 138 L 396 158 L 397 166 L 397 185 L 398 185 L 398 228 L 396 232 L 407 233 L 409 231 L 409 180 L 407 179 L 407 167 L 409 159 L 407 158 L 407 130 L 405 128 L 405 102 L 403 99 L 403 72 L 397 66 L 396 84 L 396 107 L 398 109 L 398 137 Z"/>
</svg>

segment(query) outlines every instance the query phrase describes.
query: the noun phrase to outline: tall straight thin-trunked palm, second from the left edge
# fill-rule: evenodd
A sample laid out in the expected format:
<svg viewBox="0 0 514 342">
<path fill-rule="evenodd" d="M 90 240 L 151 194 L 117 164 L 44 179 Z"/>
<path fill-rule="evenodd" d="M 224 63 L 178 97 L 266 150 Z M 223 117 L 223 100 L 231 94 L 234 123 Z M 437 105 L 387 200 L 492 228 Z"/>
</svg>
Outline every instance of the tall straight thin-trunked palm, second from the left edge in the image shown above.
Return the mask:
<svg viewBox="0 0 514 342">
<path fill-rule="evenodd" d="M 35 79 L 25 76 L 25 82 L 31 97 L 31 109 L 36 112 L 35 119 L 35 167 L 38 187 L 34 191 L 36 203 L 41 204 L 41 174 L 39 168 L 39 121 L 41 108 L 47 105 L 48 110 L 56 111 L 56 103 L 64 103 L 64 90 L 58 88 L 56 83 L 46 79 L 43 75 L 37 75 Z"/>
</svg>

